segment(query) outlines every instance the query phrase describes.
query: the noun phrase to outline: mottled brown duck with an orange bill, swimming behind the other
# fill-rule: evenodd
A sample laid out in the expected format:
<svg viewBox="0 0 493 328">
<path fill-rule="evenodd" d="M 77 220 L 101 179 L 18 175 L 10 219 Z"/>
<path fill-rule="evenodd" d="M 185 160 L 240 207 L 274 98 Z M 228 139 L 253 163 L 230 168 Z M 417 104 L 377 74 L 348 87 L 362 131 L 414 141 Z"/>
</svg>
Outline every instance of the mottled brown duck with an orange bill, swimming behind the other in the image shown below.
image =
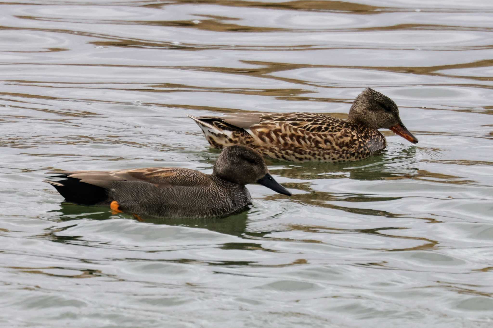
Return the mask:
<svg viewBox="0 0 493 328">
<path fill-rule="evenodd" d="M 263 156 L 291 162 L 348 162 L 384 149 L 378 129 L 390 129 L 413 144 L 395 102 L 366 88 L 354 99 L 347 119 L 316 113 L 236 113 L 193 119 L 214 148 L 246 145 Z"/>
</svg>

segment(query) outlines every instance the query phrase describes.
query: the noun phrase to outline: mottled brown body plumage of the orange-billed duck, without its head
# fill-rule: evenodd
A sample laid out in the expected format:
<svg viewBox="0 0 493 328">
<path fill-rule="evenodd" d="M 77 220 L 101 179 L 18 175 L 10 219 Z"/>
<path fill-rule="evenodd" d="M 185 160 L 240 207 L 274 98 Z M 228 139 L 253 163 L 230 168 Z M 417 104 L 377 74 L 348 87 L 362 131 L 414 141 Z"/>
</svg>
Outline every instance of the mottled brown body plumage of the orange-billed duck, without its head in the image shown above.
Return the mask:
<svg viewBox="0 0 493 328">
<path fill-rule="evenodd" d="M 243 144 L 264 156 L 287 161 L 344 162 L 366 158 L 386 146 L 378 130 L 322 114 L 251 114 L 260 121 L 251 119 L 241 124 L 243 128 L 231 124 L 234 116 L 228 115 L 227 122 L 222 116 L 197 118 L 215 128 L 216 132 L 203 128 L 212 147 Z M 231 136 L 225 137 L 225 131 Z"/>
</svg>

